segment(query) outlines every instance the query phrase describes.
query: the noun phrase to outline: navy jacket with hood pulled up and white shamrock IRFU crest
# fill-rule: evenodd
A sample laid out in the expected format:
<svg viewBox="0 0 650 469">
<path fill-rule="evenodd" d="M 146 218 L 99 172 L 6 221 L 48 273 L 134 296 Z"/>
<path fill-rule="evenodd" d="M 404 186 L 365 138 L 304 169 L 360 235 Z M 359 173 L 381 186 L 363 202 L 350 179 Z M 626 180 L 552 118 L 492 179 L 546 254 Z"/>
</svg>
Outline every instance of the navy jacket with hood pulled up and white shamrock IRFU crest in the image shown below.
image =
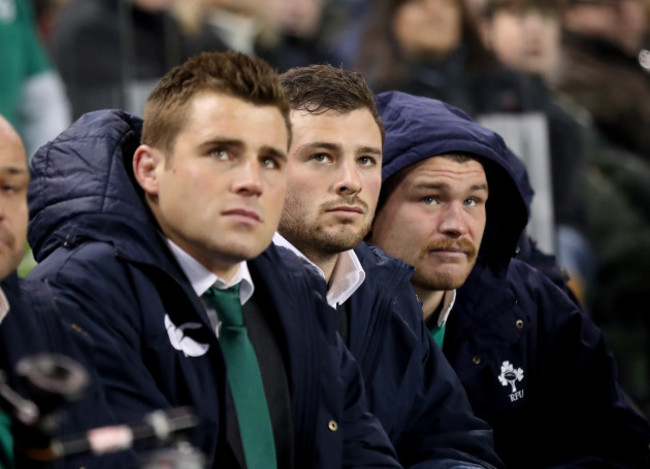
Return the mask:
<svg viewBox="0 0 650 469">
<path fill-rule="evenodd" d="M 444 353 L 507 467 L 648 467 L 648 422 L 616 381 L 601 331 L 540 271 L 513 259 L 527 221 L 501 137 L 441 101 L 378 95 L 383 180 L 418 161 L 468 153 L 489 196 L 477 264 L 458 290 Z"/>
</svg>

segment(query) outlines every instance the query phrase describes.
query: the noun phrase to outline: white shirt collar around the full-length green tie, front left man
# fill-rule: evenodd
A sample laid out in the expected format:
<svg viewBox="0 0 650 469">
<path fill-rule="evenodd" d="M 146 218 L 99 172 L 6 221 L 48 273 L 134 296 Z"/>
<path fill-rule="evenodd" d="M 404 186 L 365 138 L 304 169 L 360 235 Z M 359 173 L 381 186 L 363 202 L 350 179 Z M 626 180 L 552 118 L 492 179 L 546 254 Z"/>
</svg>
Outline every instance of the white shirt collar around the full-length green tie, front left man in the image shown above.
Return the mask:
<svg viewBox="0 0 650 469">
<path fill-rule="evenodd" d="M 166 238 L 166 241 L 197 296 L 200 297 L 212 286 L 223 290 L 238 283 L 241 283 L 239 286 L 239 301 L 242 305 L 246 304 L 253 296 L 255 285 L 253 285 L 253 279 L 246 262 L 241 262 L 230 281 L 226 282 L 206 269 L 203 264 L 190 256 L 171 239 Z"/>
</svg>

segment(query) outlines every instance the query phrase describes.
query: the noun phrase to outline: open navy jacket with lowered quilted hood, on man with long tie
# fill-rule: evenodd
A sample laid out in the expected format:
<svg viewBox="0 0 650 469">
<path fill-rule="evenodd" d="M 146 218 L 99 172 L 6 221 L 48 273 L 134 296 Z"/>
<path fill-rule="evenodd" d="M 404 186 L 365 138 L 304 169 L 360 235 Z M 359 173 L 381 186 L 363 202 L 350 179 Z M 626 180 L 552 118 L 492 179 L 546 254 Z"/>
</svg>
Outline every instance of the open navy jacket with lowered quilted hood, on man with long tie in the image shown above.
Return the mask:
<svg viewBox="0 0 650 469">
<path fill-rule="evenodd" d="M 141 126 L 124 112 L 97 111 L 37 152 L 28 238 L 39 265 L 30 275 L 79 306 L 70 319 L 93 341 L 118 419 L 189 405 L 200 417 L 191 442 L 209 467 L 224 467 L 225 365 L 205 309 L 134 182 Z M 399 467 L 367 412 L 319 279 L 273 247 L 248 265 L 256 292 L 272 304 L 269 323 L 284 352 L 293 467 Z"/>
</svg>

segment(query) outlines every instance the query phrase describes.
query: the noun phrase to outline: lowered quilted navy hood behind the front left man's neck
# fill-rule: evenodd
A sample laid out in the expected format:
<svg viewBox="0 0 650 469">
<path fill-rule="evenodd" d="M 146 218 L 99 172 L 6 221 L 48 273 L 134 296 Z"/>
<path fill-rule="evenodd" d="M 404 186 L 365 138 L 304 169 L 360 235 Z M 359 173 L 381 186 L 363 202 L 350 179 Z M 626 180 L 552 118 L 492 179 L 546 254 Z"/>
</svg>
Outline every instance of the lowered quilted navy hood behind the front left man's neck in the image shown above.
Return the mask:
<svg viewBox="0 0 650 469">
<path fill-rule="evenodd" d="M 37 261 L 76 239 L 119 247 L 150 236 L 151 215 L 131 169 L 141 132 L 138 117 L 95 111 L 36 152 L 30 161 L 27 238 Z"/>
</svg>

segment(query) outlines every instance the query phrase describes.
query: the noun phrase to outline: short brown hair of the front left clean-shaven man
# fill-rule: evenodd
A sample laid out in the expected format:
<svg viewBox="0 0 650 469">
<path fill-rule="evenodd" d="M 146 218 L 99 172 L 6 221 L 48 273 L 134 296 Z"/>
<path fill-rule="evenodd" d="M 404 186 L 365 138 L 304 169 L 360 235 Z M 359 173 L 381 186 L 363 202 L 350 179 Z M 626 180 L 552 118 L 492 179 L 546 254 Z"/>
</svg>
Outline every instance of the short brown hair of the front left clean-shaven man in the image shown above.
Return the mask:
<svg viewBox="0 0 650 469">
<path fill-rule="evenodd" d="M 277 107 L 291 138 L 289 102 L 275 70 L 261 59 L 228 51 L 196 55 L 160 80 L 145 104 L 142 143 L 171 154 L 187 122 L 189 103 L 202 92 Z"/>
</svg>

